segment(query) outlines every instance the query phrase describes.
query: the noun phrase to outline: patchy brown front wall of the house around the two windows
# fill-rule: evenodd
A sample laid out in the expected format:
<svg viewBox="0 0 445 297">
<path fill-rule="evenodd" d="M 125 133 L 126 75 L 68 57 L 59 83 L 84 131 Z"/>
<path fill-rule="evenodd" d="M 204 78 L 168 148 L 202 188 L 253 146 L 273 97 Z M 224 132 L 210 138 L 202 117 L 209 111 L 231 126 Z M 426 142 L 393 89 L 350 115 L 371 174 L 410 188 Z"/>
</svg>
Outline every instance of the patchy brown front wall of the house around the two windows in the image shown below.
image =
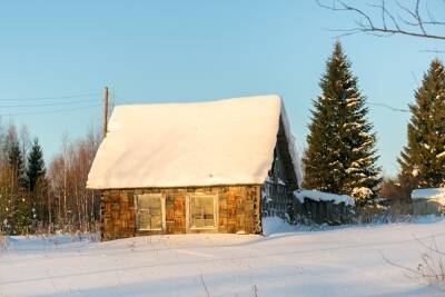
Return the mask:
<svg viewBox="0 0 445 297">
<path fill-rule="evenodd" d="M 166 199 L 165 230 L 137 230 L 135 196 L 141 194 L 164 195 Z M 186 197 L 190 194 L 217 195 L 218 218 L 216 221 L 218 226 L 216 229 L 195 230 L 188 228 Z M 102 240 L 154 234 L 261 232 L 259 185 L 103 190 L 100 209 Z"/>
</svg>

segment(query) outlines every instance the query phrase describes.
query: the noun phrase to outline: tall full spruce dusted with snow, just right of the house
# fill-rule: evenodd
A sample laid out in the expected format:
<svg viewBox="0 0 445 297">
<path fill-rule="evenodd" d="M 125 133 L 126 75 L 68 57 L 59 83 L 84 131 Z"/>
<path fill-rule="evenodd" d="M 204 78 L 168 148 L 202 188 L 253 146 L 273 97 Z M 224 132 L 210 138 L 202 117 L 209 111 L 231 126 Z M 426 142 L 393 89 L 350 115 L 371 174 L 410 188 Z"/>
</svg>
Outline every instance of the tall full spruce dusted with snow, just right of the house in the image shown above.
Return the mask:
<svg viewBox="0 0 445 297">
<path fill-rule="evenodd" d="M 335 43 L 319 86 L 322 96 L 313 100 L 303 159 L 304 187 L 350 195 L 364 204 L 377 196 L 380 182 L 376 136 L 366 118 L 365 97 L 339 42 Z"/>
</svg>

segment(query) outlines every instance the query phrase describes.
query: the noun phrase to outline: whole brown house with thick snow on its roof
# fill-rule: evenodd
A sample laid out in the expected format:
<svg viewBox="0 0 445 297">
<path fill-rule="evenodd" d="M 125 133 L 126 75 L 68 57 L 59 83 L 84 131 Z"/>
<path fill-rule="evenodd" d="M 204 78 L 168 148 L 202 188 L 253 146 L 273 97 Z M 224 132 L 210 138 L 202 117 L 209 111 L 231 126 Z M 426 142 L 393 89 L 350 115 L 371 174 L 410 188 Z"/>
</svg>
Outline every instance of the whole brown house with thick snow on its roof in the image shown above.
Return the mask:
<svg viewBox="0 0 445 297">
<path fill-rule="evenodd" d="M 88 176 L 102 240 L 261 234 L 284 217 L 300 169 L 280 97 L 115 108 Z"/>
</svg>

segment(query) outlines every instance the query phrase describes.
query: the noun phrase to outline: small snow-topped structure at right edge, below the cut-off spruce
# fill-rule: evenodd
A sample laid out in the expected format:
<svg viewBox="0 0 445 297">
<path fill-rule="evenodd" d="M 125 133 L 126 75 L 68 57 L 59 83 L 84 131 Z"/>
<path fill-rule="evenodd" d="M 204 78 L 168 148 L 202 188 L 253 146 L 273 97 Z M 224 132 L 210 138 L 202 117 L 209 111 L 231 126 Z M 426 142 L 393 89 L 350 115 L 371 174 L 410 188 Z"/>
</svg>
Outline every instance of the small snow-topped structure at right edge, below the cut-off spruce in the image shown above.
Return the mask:
<svg viewBox="0 0 445 297">
<path fill-rule="evenodd" d="M 445 188 L 415 189 L 411 194 L 413 215 L 441 215 L 445 212 Z"/>
</svg>

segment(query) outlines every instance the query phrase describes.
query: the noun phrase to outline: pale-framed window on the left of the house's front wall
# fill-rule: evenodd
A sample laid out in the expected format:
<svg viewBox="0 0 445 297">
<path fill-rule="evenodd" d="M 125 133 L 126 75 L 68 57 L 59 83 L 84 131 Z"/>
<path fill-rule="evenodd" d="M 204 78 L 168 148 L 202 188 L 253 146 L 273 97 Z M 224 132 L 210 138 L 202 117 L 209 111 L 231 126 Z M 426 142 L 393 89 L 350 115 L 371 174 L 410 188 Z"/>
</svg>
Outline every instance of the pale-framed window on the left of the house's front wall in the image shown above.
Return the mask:
<svg viewBox="0 0 445 297">
<path fill-rule="evenodd" d="M 159 194 L 136 196 L 136 222 L 139 230 L 162 230 L 165 200 Z"/>
</svg>

